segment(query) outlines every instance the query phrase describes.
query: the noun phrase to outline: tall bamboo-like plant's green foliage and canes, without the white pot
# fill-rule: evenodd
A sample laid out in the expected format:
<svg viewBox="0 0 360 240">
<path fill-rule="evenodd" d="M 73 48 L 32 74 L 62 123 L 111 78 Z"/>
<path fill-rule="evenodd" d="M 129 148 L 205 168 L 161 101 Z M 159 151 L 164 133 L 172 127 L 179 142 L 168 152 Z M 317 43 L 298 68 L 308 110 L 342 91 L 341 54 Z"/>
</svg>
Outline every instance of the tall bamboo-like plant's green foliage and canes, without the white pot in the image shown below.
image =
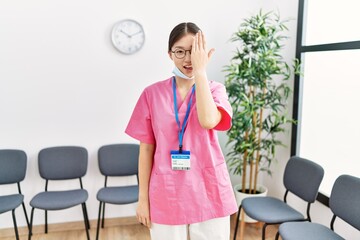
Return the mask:
<svg viewBox="0 0 360 240">
<path fill-rule="evenodd" d="M 232 42 L 238 44 L 226 65 L 225 87 L 233 108 L 232 128 L 227 131 L 227 162 L 241 175 L 241 192 L 257 191 L 260 171 L 271 175 L 276 148 L 285 146 L 279 134 L 294 123 L 286 112 L 291 95 L 288 80 L 299 74 L 299 61 L 290 67 L 282 56 L 286 23 L 274 12 L 260 12 L 244 19 Z"/>
</svg>

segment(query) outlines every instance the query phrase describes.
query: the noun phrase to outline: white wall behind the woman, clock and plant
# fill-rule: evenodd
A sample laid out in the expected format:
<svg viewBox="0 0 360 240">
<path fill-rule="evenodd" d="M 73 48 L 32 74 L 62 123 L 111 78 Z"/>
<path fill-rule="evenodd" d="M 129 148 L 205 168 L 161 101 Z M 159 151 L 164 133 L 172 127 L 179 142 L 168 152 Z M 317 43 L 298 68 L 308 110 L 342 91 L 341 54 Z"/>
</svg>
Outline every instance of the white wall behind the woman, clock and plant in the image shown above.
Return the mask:
<svg viewBox="0 0 360 240">
<path fill-rule="evenodd" d="M 1 0 L 0 148 L 19 148 L 28 155 L 22 184 L 28 212 L 30 199 L 44 188 L 37 170 L 39 150 L 81 145 L 89 151 L 84 186 L 89 191 L 89 217 L 96 219 L 96 191 L 103 184 L 97 150 L 104 144 L 135 142 L 124 129 L 142 89 L 171 75 L 167 55 L 171 29 L 183 21 L 203 29 L 208 46 L 216 49 L 209 78 L 223 82 L 223 66 L 235 50 L 229 42 L 231 34 L 244 17 L 260 8 L 296 19 L 297 0 Z M 124 18 L 139 21 L 146 32 L 145 46 L 131 56 L 117 52 L 110 40 L 113 24 Z M 284 54 L 291 59 L 296 21 L 289 27 L 291 39 Z M 220 137 L 224 145 L 225 134 Z M 284 138 L 290 143 L 289 136 Z M 279 156 L 275 170 L 280 173 L 267 180 L 274 195 L 282 193 L 280 175 L 289 152 Z M 1 193 L 11 190 L 2 188 Z M 107 216 L 131 216 L 135 208 L 136 204 L 109 206 Z M 18 225 L 24 226 L 21 209 L 16 213 Z M 0 228 L 12 227 L 10 217 L 2 214 Z M 50 223 L 81 219 L 80 208 L 49 214 Z M 34 224 L 43 222 L 43 213 L 35 212 Z"/>
</svg>

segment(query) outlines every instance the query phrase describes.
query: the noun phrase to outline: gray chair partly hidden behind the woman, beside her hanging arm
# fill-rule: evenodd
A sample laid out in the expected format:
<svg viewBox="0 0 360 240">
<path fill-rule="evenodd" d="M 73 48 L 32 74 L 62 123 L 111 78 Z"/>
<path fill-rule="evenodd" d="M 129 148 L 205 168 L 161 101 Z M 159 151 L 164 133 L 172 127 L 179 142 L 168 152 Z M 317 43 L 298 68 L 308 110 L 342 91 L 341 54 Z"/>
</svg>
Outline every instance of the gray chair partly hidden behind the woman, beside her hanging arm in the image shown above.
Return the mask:
<svg viewBox="0 0 360 240">
<path fill-rule="evenodd" d="M 108 186 L 108 177 L 136 176 L 138 181 L 138 144 L 110 144 L 99 148 L 99 169 L 105 176 L 104 187 L 99 189 L 99 216 L 96 230 L 96 239 L 99 238 L 100 219 L 102 212 L 101 227 L 104 227 L 105 204 L 129 204 L 138 201 L 139 186 Z"/>
</svg>

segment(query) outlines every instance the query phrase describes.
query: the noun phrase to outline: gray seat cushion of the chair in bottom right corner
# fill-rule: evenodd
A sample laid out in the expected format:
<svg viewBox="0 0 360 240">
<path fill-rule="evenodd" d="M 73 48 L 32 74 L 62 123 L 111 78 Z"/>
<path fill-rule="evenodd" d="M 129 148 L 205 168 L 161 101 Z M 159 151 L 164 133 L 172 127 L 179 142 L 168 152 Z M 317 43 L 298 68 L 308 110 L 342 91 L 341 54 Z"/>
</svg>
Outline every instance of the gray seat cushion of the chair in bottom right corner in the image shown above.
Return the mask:
<svg viewBox="0 0 360 240">
<path fill-rule="evenodd" d="M 324 225 L 310 222 L 283 223 L 279 233 L 283 240 L 344 240 Z"/>
</svg>

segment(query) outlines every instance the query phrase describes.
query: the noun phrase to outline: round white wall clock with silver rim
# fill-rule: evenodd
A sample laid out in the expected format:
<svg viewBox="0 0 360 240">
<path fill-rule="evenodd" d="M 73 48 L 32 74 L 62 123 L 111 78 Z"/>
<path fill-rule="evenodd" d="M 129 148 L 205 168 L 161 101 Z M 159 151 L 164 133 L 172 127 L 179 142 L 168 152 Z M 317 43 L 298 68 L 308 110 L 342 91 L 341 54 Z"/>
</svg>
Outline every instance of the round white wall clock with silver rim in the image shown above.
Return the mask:
<svg viewBox="0 0 360 240">
<path fill-rule="evenodd" d="M 137 21 L 124 19 L 115 23 L 111 38 L 115 48 L 121 53 L 133 54 L 144 46 L 145 32 Z"/>
</svg>

